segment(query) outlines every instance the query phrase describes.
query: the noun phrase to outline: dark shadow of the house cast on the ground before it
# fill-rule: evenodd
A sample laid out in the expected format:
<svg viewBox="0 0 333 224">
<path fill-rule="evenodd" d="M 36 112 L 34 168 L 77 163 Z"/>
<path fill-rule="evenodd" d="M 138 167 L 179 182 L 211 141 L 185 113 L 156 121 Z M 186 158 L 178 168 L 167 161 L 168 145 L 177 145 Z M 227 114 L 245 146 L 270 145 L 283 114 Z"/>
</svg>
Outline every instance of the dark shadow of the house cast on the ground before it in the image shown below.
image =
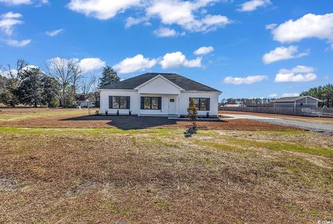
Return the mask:
<svg viewBox="0 0 333 224">
<path fill-rule="evenodd" d="M 117 127 L 123 130 L 131 130 L 131 129 L 147 129 L 153 127 L 162 127 L 164 125 L 178 125 L 177 122 L 187 122 L 187 120 L 169 120 L 167 117 L 138 117 L 138 116 L 100 116 L 100 115 L 85 115 L 79 116 L 75 118 L 65 118 L 62 119 L 65 121 L 87 121 L 93 122 L 99 120 L 105 120 L 107 125 L 112 127 Z M 205 120 L 203 122 L 223 122 L 216 120 Z M 190 124 L 189 124 L 190 125 Z M 184 126 L 184 125 L 182 125 Z M 205 129 L 205 125 L 200 126 L 200 122 L 198 122 L 199 128 L 202 127 Z M 184 126 L 186 128 L 186 126 Z"/>
</svg>

